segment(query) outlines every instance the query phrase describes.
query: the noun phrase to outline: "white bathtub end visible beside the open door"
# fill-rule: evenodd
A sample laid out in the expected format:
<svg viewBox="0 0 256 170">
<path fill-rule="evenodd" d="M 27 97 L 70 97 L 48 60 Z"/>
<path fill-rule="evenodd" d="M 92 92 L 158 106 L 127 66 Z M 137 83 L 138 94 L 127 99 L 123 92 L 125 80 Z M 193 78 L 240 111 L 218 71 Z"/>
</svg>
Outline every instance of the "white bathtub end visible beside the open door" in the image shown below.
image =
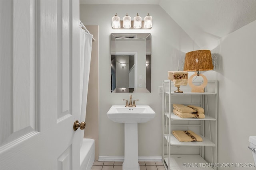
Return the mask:
<svg viewBox="0 0 256 170">
<path fill-rule="evenodd" d="M 94 163 L 95 142 L 93 139 L 84 138 L 80 148 L 80 170 L 90 170 Z"/>
</svg>

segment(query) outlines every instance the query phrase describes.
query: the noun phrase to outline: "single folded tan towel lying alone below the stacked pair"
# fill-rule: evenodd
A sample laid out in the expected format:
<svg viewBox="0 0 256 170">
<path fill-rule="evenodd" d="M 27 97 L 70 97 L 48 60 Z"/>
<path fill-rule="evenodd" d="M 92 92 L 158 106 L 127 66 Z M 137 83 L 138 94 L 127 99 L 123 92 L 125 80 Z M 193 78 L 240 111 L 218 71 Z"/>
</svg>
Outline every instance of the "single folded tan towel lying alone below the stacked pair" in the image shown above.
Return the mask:
<svg viewBox="0 0 256 170">
<path fill-rule="evenodd" d="M 180 142 L 202 142 L 203 139 L 194 133 L 193 131 L 172 131 L 172 134 L 180 141 Z"/>
</svg>

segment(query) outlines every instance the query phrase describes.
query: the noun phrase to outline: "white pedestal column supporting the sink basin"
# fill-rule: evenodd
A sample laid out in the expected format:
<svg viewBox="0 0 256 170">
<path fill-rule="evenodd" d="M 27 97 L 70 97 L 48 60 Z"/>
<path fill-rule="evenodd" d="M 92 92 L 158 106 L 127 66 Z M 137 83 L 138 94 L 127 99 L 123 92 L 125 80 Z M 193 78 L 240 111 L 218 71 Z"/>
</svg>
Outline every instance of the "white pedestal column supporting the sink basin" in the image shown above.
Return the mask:
<svg viewBox="0 0 256 170">
<path fill-rule="evenodd" d="M 138 123 L 124 123 L 123 170 L 140 170 L 138 162 Z"/>
</svg>

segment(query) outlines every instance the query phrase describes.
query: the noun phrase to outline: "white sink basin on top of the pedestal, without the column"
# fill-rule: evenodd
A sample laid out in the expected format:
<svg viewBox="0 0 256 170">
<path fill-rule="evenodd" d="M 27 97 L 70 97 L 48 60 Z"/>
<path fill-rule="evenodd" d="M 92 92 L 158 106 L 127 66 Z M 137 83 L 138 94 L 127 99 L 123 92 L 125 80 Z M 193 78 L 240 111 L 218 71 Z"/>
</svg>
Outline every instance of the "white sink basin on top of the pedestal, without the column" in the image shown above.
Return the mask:
<svg viewBox="0 0 256 170">
<path fill-rule="evenodd" d="M 118 123 L 144 123 L 153 119 L 155 115 L 154 110 L 148 105 L 136 107 L 113 105 L 107 113 L 110 120 Z"/>
</svg>

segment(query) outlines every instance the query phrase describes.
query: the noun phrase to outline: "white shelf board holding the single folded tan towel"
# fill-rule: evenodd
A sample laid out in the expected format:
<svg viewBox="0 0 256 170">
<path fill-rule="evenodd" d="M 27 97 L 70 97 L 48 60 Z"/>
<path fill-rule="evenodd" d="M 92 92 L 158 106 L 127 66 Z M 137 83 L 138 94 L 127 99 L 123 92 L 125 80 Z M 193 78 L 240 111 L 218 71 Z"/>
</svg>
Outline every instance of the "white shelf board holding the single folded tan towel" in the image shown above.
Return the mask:
<svg viewBox="0 0 256 170">
<path fill-rule="evenodd" d="M 168 141 L 168 136 L 169 135 L 164 135 L 164 138 Z M 209 139 L 203 137 L 202 135 L 199 135 L 202 137 L 203 141 L 202 142 L 180 142 L 174 135 L 171 135 L 171 146 L 216 146 L 215 143 L 211 142 Z M 169 141 L 168 141 L 169 142 Z"/>
</svg>

